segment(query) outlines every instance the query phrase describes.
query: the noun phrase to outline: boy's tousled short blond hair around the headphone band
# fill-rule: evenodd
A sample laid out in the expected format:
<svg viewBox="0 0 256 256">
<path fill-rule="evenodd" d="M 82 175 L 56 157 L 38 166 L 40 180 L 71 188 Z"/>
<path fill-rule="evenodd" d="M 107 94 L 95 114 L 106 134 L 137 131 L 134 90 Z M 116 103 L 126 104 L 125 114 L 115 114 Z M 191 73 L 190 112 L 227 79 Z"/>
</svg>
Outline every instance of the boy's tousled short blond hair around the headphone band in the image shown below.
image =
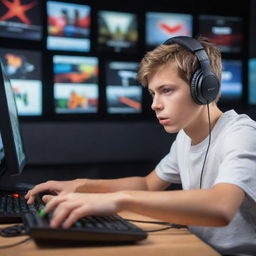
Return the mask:
<svg viewBox="0 0 256 256">
<path fill-rule="evenodd" d="M 198 37 L 197 40 L 203 45 L 210 60 L 211 71 L 216 75 L 220 82 L 222 63 L 219 49 L 206 37 Z M 138 70 L 139 82 L 147 87 L 150 79 L 154 76 L 159 67 L 167 63 L 175 63 L 180 78 L 188 84 L 190 84 L 193 73 L 200 67 L 197 57 L 184 47 L 178 44 L 161 44 L 154 50 L 146 53 L 143 57 Z M 219 97 L 220 92 L 215 102 L 218 101 Z"/>
</svg>

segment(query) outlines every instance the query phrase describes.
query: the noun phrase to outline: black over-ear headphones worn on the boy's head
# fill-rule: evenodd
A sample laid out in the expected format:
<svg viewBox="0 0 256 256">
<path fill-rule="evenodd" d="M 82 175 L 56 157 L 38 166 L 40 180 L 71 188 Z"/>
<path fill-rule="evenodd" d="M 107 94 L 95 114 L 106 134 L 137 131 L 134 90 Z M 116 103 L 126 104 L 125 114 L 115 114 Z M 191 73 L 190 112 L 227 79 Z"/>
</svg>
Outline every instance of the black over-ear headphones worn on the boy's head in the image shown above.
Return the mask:
<svg viewBox="0 0 256 256">
<path fill-rule="evenodd" d="M 196 104 L 205 105 L 214 101 L 220 90 L 220 82 L 211 71 L 210 60 L 202 44 L 188 36 L 176 36 L 166 40 L 164 45 L 178 44 L 192 52 L 198 59 L 200 68 L 191 77 L 190 91 Z"/>
</svg>

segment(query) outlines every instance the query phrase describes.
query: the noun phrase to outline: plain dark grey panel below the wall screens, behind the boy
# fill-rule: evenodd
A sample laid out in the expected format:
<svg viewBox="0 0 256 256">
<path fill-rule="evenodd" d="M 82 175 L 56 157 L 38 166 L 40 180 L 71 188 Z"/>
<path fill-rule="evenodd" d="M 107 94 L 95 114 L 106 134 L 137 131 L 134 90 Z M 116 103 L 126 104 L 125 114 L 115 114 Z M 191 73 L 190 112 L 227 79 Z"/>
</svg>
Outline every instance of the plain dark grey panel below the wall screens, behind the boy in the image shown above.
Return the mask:
<svg viewBox="0 0 256 256">
<path fill-rule="evenodd" d="M 23 123 L 22 131 L 33 164 L 156 160 L 173 139 L 157 121 Z"/>
</svg>

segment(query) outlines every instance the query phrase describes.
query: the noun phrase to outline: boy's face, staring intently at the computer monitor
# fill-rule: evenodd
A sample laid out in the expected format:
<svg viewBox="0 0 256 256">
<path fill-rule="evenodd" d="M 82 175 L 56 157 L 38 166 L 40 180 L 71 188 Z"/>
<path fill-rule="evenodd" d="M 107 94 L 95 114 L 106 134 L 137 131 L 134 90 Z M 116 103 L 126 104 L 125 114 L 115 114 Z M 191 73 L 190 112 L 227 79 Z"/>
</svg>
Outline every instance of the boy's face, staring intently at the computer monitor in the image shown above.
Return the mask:
<svg viewBox="0 0 256 256">
<path fill-rule="evenodd" d="M 193 101 L 190 85 L 179 77 L 173 63 L 157 70 L 149 81 L 148 90 L 153 97 L 151 108 L 167 132 L 196 128 L 203 106 Z"/>
</svg>

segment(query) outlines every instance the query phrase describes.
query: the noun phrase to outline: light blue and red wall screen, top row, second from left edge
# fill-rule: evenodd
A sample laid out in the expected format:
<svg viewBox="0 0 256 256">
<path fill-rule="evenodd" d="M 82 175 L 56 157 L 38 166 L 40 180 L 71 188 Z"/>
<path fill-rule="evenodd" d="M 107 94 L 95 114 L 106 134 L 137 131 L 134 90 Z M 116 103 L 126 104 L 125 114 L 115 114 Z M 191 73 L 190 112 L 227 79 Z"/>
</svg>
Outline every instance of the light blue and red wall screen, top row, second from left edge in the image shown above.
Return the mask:
<svg viewBox="0 0 256 256">
<path fill-rule="evenodd" d="M 47 2 L 47 48 L 61 51 L 90 51 L 90 11 L 88 5 Z"/>
</svg>

